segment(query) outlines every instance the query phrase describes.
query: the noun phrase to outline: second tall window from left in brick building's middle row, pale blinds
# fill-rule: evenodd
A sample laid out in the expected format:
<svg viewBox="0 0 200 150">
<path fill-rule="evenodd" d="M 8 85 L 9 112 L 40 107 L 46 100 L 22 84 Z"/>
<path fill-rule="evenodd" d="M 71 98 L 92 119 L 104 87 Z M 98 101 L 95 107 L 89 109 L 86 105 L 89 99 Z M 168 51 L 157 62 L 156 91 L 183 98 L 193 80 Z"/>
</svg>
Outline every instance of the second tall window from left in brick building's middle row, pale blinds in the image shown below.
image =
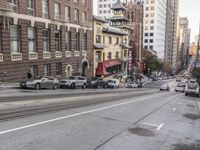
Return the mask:
<svg viewBox="0 0 200 150">
<path fill-rule="evenodd" d="M 28 28 L 28 51 L 35 52 L 35 28 Z"/>
</svg>

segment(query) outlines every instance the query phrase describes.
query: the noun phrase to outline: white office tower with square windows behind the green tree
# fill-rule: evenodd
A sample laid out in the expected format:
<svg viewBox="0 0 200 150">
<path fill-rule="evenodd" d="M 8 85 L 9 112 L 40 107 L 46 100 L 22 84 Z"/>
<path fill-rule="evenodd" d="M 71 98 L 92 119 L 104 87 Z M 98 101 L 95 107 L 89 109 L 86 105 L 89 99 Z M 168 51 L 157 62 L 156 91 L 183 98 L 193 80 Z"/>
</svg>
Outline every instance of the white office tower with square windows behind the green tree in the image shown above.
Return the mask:
<svg viewBox="0 0 200 150">
<path fill-rule="evenodd" d="M 166 0 L 144 0 L 144 48 L 164 59 Z"/>
</svg>

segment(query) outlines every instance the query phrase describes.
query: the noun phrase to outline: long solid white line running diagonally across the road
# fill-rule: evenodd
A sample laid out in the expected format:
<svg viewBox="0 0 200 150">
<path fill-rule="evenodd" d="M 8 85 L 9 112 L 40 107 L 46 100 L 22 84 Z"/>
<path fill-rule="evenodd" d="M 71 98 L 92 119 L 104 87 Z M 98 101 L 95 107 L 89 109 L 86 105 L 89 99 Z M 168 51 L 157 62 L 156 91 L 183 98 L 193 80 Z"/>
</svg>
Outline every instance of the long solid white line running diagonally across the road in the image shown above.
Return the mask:
<svg viewBox="0 0 200 150">
<path fill-rule="evenodd" d="M 130 103 L 142 101 L 142 100 L 154 97 L 154 96 L 155 95 L 149 96 L 149 97 L 144 97 L 144 98 L 137 99 L 137 100 L 130 100 L 130 101 L 119 103 L 119 104 L 114 104 L 114 105 L 110 105 L 110 106 L 106 106 L 106 107 L 102 107 L 102 108 L 97 108 L 97 109 L 92 109 L 92 110 L 89 110 L 89 111 L 84 111 L 84 112 L 80 112 L 80 113 L 76 113 L 76 114 L 72 114 L 72 115 L 68 115 L 68 116 L 63 116 L 63 117 L 59 117 L 59 118 L 55 118 L 55 119 L 50 119 L 50 120 L 46 120 L 46 121 L 42 121 L 42 122 L 38 122 L 38 123 L 26 125 L 26 126 L 21 126 L 21 127 L 18 127 L 18 128 L 13 128 L 13 129 L 5 130 L 5 131 L 0 131 L 0 135 L 6 134 L 6 133 L 10 133 L 10 132 L 14 132 L 14 131 L 27 129 L 27 128 L 31 128 L 31 127 L 34 127 L 34 126 L 39 126 L 39 125 L 55 122 L 55 121 L 58 121 L 58 120 L 63 120 L 63 119 L 67 119 L 67 118 L 72 118 L 72 117 L 76 117 L 76 116 L 80 116 L 80 115 L 84 115 L 84 114 L 97 112 L 97 111 L 109 109 L 109 108 L 112 108 L 112 107 L 118 107 L 118 106 L 121 106 L 121 105 L 126 105 L 126 104 L 130 104 Z"/>
</svg>

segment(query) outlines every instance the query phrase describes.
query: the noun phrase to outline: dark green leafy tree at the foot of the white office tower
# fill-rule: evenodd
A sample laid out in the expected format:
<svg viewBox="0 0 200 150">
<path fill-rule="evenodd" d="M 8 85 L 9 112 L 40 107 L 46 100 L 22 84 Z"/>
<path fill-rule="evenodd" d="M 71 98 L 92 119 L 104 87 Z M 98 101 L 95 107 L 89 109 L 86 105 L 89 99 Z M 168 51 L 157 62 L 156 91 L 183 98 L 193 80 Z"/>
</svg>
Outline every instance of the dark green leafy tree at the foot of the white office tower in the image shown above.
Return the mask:
<svg viewBox="0 0 200 150">
<path fill-rule="evenodd" d="M 147 68 L 150 68 L 150 71 L 162 71 L 163 62 L 161 62 L 156 56 L 148 56 L 144 60 Z"/>
</svg>

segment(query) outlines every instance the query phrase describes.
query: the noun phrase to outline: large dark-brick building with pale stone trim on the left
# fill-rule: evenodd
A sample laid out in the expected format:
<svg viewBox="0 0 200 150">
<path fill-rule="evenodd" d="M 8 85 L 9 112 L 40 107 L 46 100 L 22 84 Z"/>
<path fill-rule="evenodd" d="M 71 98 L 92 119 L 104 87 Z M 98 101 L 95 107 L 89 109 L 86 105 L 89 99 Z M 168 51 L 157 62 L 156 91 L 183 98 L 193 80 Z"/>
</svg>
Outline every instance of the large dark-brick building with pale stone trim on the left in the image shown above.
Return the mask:
<svg viewBox="0 0 200 150">
<path fill-rule="evenodd" d="M 0 74 L 92 75 L 93 0 L 1 0 Z"/>
</svg>

